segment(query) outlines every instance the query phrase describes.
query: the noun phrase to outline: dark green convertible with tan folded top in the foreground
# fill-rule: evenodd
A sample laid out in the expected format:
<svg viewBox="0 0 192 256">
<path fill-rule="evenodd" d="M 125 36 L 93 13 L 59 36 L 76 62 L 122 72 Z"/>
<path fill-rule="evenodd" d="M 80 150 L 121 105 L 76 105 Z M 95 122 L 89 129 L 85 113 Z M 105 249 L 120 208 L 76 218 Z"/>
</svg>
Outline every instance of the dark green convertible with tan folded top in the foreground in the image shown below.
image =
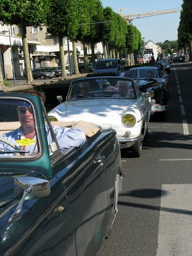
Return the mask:
<svg viewBox="0 0 192 256">
<path fill-rule="evenodd" d="M 122 186 L 116 132 L 81 121 L 56 122 L 86 134 L 81 147 L 61 152 L 39 97 L 0 92 L 0 109 L 0 255 L 97 255 Z M 4 140 L 25 113 L 35 122 L 33 139 L 18 133 L 15 143 Z"/>
</svg>

